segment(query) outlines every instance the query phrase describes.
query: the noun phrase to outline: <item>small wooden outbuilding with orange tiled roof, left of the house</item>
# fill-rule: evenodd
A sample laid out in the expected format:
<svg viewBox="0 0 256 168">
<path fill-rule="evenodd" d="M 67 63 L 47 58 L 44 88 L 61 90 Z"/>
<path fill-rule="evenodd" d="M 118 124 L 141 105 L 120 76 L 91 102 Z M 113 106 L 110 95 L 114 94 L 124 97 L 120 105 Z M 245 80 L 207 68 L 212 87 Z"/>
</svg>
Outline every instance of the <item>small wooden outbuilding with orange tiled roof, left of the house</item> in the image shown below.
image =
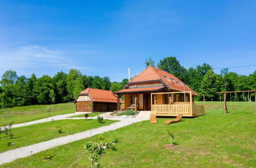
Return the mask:
<svg viewBox="0 0 256 168">
<path fill-rule="evenodd" d="M 114 111 L 117 109 L 117 97 L 113 92 L 87 88 L 79 93 L 74 103 L 76 112 Z M 119 100 L 122 103 L 122 100 Z"/>
</svg>

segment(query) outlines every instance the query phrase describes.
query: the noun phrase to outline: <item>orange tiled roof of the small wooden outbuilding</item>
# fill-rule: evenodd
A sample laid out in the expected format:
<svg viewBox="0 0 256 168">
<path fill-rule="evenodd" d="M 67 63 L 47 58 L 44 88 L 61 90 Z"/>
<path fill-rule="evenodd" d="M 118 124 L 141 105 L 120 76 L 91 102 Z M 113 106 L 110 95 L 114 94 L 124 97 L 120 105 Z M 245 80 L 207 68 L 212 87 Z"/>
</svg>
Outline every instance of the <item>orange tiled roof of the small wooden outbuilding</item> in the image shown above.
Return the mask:
<svg viewBox="0 0 256 168">
<path fill-rule="evenodd" d="M 117 97 L 113 95 L 113 92 L 101 90 L 101 89 L 94 89 L 94 88 L 87 88 L 86 90 L 83 90 L 80 94 L 88 94 L 92 101 L 96 102 L 112 102 L 117 103 Z M 120 103 L 123 103 L 123 101 L 120 99 Z"/>
</svg>

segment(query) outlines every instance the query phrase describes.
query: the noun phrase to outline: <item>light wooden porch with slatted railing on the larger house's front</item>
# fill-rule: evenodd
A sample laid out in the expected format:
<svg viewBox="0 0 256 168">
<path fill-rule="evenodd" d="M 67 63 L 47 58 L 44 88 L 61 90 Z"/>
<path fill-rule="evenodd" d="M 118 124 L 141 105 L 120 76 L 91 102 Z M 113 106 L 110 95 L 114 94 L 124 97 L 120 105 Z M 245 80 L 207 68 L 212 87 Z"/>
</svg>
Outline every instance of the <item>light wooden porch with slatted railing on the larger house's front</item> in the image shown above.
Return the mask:
<svg viewBox="0 0 256 168">
<path fill-rule="evenodd" d="M 155 95 L 163 95 L 168 94 L 169 96 L 169 103 L 157 103 Z M 184 102 L 174 102 L 172 101 L 175 97 L 175 94 L 184 94 L 186 97 L 189 94 L 189 101 Z M 154 96 L 154 97 L 153 97 Z M 154 99 L 154 101 L 153 101 Z M 185 117 L 194 117 L 194 116 L 202 116 L 204 115 L 204 105 L 196 105 L 193 102 L 192 93 L 191 92 L 168 92 L 168 93 L 152 93 L 151 94 L 152 100 L 152 114 L 156 116 L 178 116 L 179 114 L 183 114 Z"/>
</svg>

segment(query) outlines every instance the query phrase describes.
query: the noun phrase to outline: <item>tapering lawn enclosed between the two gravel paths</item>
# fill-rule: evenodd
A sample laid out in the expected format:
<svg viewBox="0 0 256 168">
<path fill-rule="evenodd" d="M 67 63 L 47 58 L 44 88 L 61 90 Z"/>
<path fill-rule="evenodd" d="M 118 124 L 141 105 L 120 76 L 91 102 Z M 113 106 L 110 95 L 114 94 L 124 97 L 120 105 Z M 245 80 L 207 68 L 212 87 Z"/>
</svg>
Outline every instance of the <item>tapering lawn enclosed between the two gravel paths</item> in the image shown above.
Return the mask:
<svg viewBox="0 0 256 168">
<path fill-rule="evenodd" d="M 104 120 L 98 123 L 97 120 L 56 120 L 46 123 L 39 123 L 24 127 L 13 128 L 14 137 L 4 137 L 0 134 L 0 152 L 8 151 L 14 148 L 29 146 L 32 144 L 48 141 L 60 136 L 66 136 L 77 132 L 98 128 L 101 126 L 115 123 L 116 121 Z M 62 129 L 63 133 L 58 133 Z M 7 142 L 15 143 L 15 146 L 7 146 Z"/>
</svg>

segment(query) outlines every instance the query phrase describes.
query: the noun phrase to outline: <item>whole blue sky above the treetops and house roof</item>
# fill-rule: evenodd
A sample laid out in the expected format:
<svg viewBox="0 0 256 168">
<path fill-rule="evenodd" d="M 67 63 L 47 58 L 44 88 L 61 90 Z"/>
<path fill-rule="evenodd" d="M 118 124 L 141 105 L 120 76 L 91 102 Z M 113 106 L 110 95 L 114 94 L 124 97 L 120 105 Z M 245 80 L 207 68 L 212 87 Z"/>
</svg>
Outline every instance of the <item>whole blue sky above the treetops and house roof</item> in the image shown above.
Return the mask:
<svg viewBox="0 0 256 168">
<path fill-rule="evenodd" d="M 0 75 L 76 68 L 120 81 L 169 56 L 185 68 L 256 65 L 255 16 L 256 1 L 0 1 Z"/>
</svg>

